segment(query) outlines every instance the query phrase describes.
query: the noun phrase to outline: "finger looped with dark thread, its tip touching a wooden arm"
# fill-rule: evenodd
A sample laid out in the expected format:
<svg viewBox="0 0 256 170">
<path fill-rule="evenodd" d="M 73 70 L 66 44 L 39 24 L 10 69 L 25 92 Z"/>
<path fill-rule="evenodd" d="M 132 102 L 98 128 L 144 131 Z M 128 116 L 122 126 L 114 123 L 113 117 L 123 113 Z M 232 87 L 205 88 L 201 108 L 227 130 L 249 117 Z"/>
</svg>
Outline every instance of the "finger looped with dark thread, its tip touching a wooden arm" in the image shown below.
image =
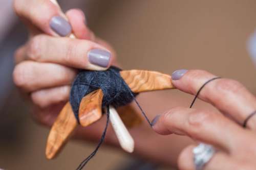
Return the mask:
<svg viewBox="0 0 256 170">
<path fill-rule="evenodd" d="M 204 70 L 188 70 L 178 76 L 179 70 L 172 75 L 173 84 L 181 91 L 196 95 L 200 87 L 215 75 Z M 243 124 L 246 117 L 256 110 L 256 98 L 241 83 L 231 79 L 217 79 L 209 82 L 198 96 L 216 106 L 224 114 Z M 251 129 L 256 129 L 256 118 L 248 122 Z M 254 124 L 253 124 L 254 123 Z"/>
</svg>

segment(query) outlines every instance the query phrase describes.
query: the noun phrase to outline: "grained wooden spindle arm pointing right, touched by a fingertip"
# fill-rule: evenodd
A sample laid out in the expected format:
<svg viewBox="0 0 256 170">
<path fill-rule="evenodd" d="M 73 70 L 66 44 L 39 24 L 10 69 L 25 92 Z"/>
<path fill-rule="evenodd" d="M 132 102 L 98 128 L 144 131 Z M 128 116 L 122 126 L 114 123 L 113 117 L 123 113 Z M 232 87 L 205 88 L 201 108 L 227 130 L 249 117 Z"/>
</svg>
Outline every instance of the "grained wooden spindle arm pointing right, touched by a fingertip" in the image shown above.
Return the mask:
<svg viewBox="0 0 256 170">
<path fill-rule="evenodd" d="M 175 88 L 171 76 L 157 71 L 123 70 L 120 75 L 133 92 Z"/>
</svg>

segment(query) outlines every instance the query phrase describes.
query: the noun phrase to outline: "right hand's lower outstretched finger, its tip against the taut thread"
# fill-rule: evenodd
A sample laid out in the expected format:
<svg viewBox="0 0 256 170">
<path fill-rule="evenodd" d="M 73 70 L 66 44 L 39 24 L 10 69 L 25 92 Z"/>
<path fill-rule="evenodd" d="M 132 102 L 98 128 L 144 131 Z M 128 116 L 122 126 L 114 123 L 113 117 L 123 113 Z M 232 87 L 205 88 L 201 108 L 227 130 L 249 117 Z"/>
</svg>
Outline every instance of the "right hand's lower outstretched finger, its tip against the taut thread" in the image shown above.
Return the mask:
<svg viewBox="0 0 256 170">
<path fill-rule="evenodd" d="M 153 120 L 153 129 L 162 135 L 188 135 L 230 152 L 246 138 L 244 129 L 221 114 L 197 109 L 173 108 Z"/>
</svg>

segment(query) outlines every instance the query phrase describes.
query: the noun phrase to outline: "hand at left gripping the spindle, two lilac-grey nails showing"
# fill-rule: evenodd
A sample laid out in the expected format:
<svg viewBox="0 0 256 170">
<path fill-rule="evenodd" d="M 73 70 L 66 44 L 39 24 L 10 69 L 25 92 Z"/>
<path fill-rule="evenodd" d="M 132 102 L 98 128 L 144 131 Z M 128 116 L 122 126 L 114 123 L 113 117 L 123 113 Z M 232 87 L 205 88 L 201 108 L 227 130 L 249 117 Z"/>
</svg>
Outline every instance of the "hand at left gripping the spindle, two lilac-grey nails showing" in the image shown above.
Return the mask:
<svg viewBox="0 0 256 170">
<path fill-rule="evenodd" d="M 16 51 L 13 80 L 32 101 L 33 117 L 51 126 L 69 99 L 77 69 L 105 70 L 114 53 L 84 24 L 81 10 L 69 10 L 65 16 L 50 0 L 15 0 L 14 10 L 30 36 Z M 60 37 L 68 36 L 71 28 L 79 39 Z"/>
</svg>

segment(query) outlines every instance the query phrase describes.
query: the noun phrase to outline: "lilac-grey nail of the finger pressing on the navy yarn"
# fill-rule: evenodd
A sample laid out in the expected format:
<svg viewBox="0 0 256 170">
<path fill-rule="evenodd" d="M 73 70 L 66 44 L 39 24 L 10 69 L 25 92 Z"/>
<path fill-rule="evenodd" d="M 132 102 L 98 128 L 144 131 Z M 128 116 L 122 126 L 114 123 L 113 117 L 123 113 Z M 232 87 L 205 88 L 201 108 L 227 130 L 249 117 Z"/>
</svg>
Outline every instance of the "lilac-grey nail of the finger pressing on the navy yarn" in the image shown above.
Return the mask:
<svg viewBox="0 0 256 170">
<path fill-rule="evenodd" d="M 92 49 L 88 53 L 89 62 L 101 67 L 108 67 L 111 53 L 101 49 Z"/>
</svg>

